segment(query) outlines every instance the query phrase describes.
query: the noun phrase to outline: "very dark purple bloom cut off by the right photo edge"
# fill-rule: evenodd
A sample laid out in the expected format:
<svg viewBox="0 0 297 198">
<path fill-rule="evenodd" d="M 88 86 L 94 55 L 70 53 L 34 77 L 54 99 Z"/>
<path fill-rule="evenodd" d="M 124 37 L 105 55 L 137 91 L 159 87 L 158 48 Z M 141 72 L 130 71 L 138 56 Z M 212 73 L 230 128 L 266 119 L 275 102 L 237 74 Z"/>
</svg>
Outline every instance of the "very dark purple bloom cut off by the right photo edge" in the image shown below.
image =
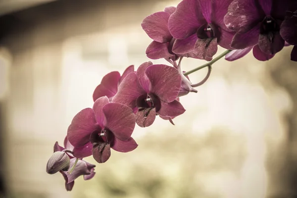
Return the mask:
<svg viewBox="0 0 297 198">
<path fill-rule="evenodd" d="M 283 39 L 293 45 L 291 52 L 291 60 L 297 61 L 297 1 L 291 1 L 287 11 L 287 16 L 281 25 L 281 36 Z"/>
</svg>

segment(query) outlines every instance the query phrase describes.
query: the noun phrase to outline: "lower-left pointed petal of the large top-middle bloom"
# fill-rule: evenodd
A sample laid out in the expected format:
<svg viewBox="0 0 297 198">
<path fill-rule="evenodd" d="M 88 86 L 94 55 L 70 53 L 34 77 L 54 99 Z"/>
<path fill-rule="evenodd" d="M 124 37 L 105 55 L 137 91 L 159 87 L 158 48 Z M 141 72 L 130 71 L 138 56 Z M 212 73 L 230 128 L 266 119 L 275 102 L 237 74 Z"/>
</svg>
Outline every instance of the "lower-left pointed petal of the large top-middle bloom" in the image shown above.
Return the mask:
<svg viewBox="0 0 297 198">
<path fill-rule="evenodd" d="M 187 39 L 177 39 L 175 40 L 172 51 L 177 54 L 184 54 L 190 51 L 193 51 L 195 48 L 195 44 L 197 42 L 197 35 L 193 34 Z"/>
</svg>

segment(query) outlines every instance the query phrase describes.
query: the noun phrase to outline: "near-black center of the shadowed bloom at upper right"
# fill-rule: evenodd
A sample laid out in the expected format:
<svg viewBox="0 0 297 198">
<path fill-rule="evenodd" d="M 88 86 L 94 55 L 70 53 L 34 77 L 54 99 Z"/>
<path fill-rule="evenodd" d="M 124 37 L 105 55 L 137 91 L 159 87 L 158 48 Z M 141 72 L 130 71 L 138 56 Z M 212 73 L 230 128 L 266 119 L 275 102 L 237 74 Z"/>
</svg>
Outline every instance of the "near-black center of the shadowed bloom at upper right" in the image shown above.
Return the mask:
<svg viewBox="0 0 297 198">
<path fill-rule="evenodd" d="M 274 32 L 279 32 L 280 27 L 271 16 L 266 16 L 261 23 L 260 34 L 267 35 L 270 42 L 273 42 Z"/>
</svg>

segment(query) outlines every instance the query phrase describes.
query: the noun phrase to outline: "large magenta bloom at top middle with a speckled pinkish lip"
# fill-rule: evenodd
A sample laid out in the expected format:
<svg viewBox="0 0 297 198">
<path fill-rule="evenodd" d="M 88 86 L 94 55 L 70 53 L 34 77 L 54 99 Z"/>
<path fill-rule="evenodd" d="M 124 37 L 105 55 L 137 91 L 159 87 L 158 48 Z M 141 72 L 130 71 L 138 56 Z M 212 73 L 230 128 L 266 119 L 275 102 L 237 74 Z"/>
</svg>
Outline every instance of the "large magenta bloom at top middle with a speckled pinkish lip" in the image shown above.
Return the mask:
<svg viewBox="0 0 297 198">
<path fill-rule="evenodd" d="M 224 24 L 224 16 L 232 0 L 183 0 L 169 17 L 171 35 L 179 39 L 174 53 L 194 53 L 198 58 L 211 60 L 217 45 L 231 49 L 234 33 Z"/>
</svg>

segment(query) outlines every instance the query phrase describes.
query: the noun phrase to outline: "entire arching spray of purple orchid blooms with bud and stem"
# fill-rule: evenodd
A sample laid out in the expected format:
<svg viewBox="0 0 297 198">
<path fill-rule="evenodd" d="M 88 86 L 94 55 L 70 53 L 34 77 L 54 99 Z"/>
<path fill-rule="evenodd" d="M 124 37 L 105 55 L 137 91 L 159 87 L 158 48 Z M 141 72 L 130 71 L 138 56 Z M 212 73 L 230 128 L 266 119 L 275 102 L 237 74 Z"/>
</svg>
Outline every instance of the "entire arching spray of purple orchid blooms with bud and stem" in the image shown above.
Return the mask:
<svg viewBox="0 0 297 198">
<path fill-rule="evenodd" d="M 148 61 L 136 71 L 131 65 L 122 75 L 114 71 L 103 77 L 93 94 L 93 108 L 74 116 L 64 148 L 56 142 L 47 164 L 49 174 L 63 175 L 67 191 L 77 177 L 94 177 L 95 165 L 84 157 L 93 155 L 104 163 L 110 148 L 137 148 L 131 137 L 135 124 L 148 127 L 156 116 L 173 124 L 185 112 L 179 97 L 196 93 L 194 87 L 208 79 L 211 65 L 223 56 L 233 61 L 252 50 L 256 59 L 265 61 L 294 45 L 291 60 L 297 61 L 297 0 L 182 0 L 177 7 L 147 16 L 141 25 L 153 40 L 148 58 L 164 58 L 172 66 Z M 218 45 L 227 50 L 212 59 Z M 183 57 L 210 62 L 184 73 Z M 206 77 L 192 84 L 187 75 L 203 67 L 208 67 Z"/>
</svg>

